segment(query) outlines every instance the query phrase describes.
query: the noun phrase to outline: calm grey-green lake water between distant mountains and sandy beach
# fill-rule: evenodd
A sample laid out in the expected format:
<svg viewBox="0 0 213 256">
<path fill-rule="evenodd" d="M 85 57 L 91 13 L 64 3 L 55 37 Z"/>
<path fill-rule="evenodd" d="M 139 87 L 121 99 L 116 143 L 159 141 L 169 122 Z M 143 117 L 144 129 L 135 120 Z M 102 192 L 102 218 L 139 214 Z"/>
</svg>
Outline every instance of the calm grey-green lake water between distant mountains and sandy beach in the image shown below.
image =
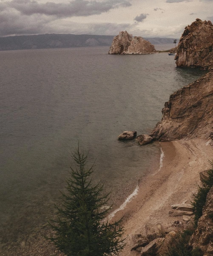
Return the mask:
<svg viewBox="0 0 213 256">
<path fill-rule="evenodd" d="M 130 195 L 158 143 L 121 142 L 125 130 L 149 133 L 169 95 L 204 72 L 176 68 L 173 56 L 108 55 L 109 47 L 0 52 L 1 243 L 22 241 L 45 223 L 77 147 L 94 160 L 94 181 L 112 189 L 115 207 Z M 167 49 L 167 48 L 166 48 Z"/>
</svg>

